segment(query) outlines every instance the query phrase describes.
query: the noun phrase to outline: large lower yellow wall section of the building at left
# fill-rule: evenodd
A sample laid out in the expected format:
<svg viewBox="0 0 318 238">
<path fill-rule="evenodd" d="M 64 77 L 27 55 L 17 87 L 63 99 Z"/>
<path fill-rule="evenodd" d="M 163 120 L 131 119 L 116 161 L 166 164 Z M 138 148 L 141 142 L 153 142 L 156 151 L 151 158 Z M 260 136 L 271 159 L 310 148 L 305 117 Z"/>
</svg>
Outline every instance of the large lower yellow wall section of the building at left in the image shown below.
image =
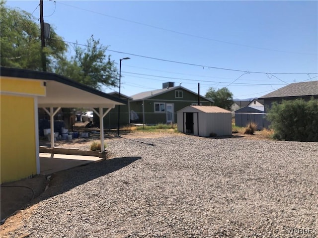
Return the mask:
<svg viewBox="0 0 318 238">
<path fill-rule="evenodd" d="M 34 98 L 0 96 L 0 182 L 36 174 Z"/>
</svg>

